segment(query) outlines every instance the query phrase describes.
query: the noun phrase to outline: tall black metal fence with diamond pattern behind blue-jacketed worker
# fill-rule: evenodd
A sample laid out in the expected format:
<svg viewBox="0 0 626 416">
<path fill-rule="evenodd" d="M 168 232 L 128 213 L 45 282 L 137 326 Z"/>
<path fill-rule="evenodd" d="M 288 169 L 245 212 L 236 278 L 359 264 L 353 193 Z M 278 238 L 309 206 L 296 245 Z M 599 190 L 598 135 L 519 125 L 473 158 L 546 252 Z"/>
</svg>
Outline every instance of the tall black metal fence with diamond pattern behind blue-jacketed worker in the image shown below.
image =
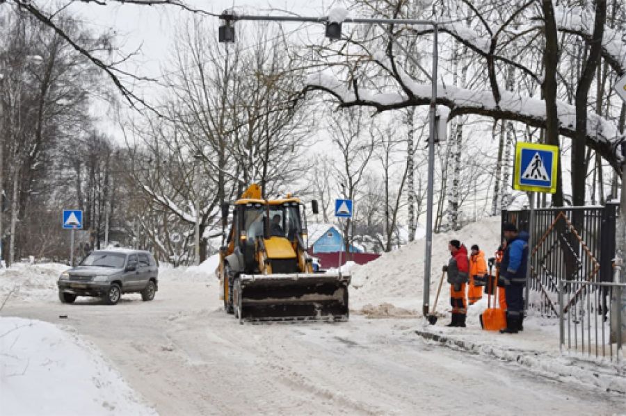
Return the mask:
<svg viewBox="0 0 626 416">
<path fill-rule="evenodd" d="M 604 207 L 537 209 L 532 230 L 529 210 L 502 211 L 502 224 L 513 222 L 532 237 L 529 308 L 560 316 L 559 281 L 613 281 L 618 207 L 618 203 L 607 203 Z M 606 297 L 602 298 L 606 310 Z"/>
</svg>

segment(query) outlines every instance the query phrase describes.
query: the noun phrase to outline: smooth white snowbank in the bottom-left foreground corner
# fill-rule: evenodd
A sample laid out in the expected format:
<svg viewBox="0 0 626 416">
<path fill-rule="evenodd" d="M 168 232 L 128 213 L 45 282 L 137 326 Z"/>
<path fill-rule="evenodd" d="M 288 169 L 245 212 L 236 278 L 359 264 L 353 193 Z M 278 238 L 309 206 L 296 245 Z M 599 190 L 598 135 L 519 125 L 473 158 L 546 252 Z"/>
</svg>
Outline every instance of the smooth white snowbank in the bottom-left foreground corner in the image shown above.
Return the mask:
<svg viewBox="0 0 626 416">
<path fill-rule="evenodd" d="M 0 318 L 3 415 L 156 415 L 95 347 L 53 324 Z"/>
</svg>

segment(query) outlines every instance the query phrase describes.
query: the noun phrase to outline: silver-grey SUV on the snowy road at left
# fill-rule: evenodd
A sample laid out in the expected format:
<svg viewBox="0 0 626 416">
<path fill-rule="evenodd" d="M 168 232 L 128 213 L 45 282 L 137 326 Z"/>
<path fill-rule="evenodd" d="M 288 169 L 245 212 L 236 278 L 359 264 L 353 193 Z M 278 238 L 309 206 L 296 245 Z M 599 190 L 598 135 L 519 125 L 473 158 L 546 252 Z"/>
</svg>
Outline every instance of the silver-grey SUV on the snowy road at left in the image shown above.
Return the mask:
<svg viewBox="0 0 626 416">
<path fill-rule="evenodd" d="M 58 299 L 72 303 L 77 296 L 102 297 L 115 305 L 122 293 L 141 293 L 151 301 L 158 290 L 159 269 L 152 254 L 143 250 L 108 249 L 93 251 L 81 265 L 59 276 Z"/>
</svg>

